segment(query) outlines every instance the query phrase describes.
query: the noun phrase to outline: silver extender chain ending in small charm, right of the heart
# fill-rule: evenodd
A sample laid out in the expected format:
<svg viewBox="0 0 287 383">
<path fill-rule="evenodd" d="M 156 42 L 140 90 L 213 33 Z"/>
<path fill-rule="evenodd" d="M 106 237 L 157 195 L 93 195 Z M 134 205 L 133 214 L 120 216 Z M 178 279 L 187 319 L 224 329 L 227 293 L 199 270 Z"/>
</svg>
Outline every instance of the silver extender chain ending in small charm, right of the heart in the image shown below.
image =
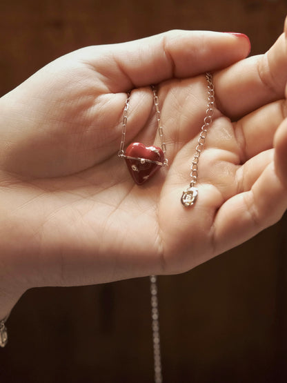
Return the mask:
<svg viewBox="0 0 287 383">
<path fill-rule="evenodd" d="M 199 139 L 195 148 L 195 155 L 193 156 L 192 164 L 190 166 L 190 186 L 186 190 L 184 190 L 184 193 L 182 193 L 181 196 L 181 204 L 183 204 L 186 207 L 195 204 L 195 201 L 197 199 L 198 189 L 195 188 L 195 184 L 197 183 L 198 177 L 197 165 L 201 152 L 204 149 L 207 131 L 210 125 L 212 124 L 212 117 L 215 111 L 215 87 L 213 85 L 212 75 L 210 73 L 206 73 L 206 80 L 208 83 L 208 104 L 206 109 L 206 117 L 204 117 L 204 125 L 201 126 L 201 132 L 199 134 Z"/>
</svg>

